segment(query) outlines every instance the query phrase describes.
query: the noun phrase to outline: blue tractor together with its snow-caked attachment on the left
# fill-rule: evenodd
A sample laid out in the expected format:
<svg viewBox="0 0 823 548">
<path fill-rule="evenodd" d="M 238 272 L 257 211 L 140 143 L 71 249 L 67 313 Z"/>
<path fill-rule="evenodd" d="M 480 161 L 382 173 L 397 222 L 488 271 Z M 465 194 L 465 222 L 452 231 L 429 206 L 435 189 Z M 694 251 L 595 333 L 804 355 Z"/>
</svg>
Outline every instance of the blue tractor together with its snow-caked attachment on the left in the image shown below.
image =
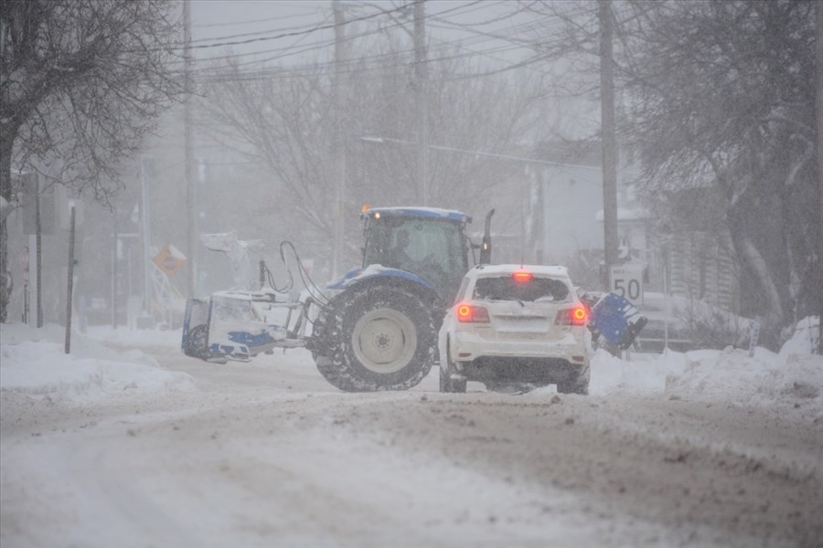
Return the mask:
<svg viewBox="0 0 823 548">
<path fill-rule="evenodd" d="M 479 248 L 478 264 L 491 262 L 493 214 L 494 209 L 486 215 L 482 244 L 475 245 L 465 233 L 471 217 L 459 211 L 364 208 L 360 267 L 327 286 L 319 299 L 283 302 L 271 289 L 190 299 L 183 352 L 224 363 L 303 346 L 340 390 L 409 389 L 438 358 L 437 332 L 474 266 L 474 250 Z"/>
</svg>

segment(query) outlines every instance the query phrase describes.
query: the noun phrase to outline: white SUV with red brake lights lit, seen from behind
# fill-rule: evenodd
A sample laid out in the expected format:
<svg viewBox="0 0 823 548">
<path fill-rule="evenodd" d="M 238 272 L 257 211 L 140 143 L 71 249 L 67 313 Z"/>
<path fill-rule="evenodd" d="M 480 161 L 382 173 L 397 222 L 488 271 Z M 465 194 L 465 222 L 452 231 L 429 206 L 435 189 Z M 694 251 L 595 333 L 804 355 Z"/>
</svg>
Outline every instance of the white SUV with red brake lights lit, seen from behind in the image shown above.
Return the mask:
<svg viewBox="0 0 823 548">
<path fill-rule="evenodd" d="M 469 270 L 440 330 L 440 391 L 465 392 L 468 380 L 588 394 L 588 315 L 563 267 Z"/>
</svg>

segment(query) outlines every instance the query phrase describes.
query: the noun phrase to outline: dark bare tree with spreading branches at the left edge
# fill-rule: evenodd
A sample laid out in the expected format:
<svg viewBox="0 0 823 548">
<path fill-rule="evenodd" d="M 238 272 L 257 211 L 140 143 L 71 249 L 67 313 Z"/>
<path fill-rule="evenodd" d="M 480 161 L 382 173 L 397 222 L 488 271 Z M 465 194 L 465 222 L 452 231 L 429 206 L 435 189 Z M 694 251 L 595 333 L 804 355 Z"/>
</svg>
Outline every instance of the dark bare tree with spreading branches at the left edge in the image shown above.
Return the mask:
<svg viewBox="0 0 823 548">
<path fill-rule="evenodd" d="M 0 0 L 0 196 L 12 168 L 107 202 L 125 162 L 184 92 L 171 0 Z M 10 279 L 0 225 L 0 321 Z"/>
</svg>

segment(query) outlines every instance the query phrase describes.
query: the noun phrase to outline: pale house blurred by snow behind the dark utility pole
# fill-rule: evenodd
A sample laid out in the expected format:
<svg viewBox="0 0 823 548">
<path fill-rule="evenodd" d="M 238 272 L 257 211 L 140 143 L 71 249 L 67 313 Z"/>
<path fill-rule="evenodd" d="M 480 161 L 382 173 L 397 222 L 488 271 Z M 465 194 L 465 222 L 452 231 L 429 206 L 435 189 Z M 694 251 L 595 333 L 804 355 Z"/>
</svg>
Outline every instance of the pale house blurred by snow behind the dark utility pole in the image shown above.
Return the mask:
<svg viewBox="0 0 823 548">
<path fill-rule="evenodd" d="M 602 289 L 604 278 L 603 170 L 598 141 L 545 142 L 540 163 L 530 166 L 532 195 L 525 236 L 537 262 L 563 264 L 584 288 Z M 617 170 L 618 255 L 644 267 L 644 289 L 704 300 L 738 311 L 739 277 L 720 231 L 700 223 L 689 208 L 705 209 L 710 199 L 691 191 L 676 196 L 677 212 L 667 234 L 653 230 L 649 216 L 635 204 L 632 182 L 638 176 L 628 153 Z M 674 216 L 674 215 L 673 215 Z M 684 222 L 683 219 L 687 222 Z M 667 278 L 668 274 L 668 278 Z"/>
</svg>

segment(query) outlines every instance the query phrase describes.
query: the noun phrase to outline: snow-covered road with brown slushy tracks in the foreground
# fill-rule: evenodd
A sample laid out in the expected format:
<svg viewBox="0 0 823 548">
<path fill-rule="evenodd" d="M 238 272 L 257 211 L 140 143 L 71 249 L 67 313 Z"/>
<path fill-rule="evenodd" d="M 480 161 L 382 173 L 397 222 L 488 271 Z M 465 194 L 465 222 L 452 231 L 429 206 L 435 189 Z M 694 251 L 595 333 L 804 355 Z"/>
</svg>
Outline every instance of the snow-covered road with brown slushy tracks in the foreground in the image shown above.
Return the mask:
<svg viewBox="0 0 823 548">
<path fill-rule="evenodd" d="M 434 374 L 409 392 L 344 394 L 302 350 L 216 365 L 142 349 L 162 389 L 105 368 L 70 389 L 6 374 L 4 548 L 823 539 L 819 396 L 741 403 L 671 374 L 649 389 L 655 375 L 637 372 L 659 364 L 637 359 L 622 374 L 644 382 L 604 389 L 606 358 L 590 396 L 441 395 Z"/>
</svg>

